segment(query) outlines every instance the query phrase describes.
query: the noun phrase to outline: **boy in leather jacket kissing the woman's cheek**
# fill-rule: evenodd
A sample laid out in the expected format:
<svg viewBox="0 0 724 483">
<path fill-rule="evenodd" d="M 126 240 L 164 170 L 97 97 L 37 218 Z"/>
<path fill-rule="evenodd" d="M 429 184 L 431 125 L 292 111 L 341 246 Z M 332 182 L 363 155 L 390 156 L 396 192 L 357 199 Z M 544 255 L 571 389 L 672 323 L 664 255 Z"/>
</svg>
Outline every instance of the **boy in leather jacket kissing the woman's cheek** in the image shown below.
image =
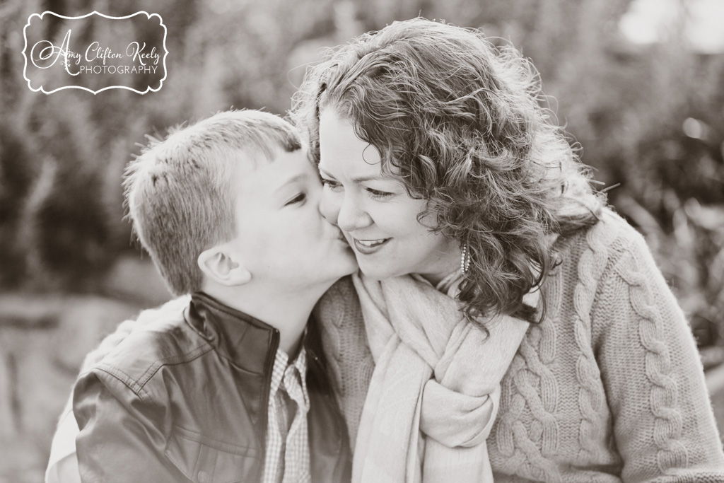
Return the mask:
<svg viewBox="0 0 724 483">
<path fill-rule="evenodd" d="M 307 321 L 356 265 L 319 214 L 294 128 L 264 112 L 216 114 L 151 143 L 125 187 L 140 242 L 172 292 L 191 297 L 78 379 L 81 481 L 349 479 Z"/>
</svg>

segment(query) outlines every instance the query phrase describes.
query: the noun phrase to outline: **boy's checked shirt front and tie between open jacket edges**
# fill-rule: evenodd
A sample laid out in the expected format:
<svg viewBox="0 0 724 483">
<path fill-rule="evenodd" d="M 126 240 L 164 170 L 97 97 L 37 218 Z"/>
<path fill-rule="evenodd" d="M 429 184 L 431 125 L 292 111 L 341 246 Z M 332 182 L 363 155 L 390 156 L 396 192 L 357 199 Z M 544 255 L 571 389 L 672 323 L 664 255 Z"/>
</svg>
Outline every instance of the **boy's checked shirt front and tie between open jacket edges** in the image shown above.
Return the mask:
<svg viewBox="0 0 724 483">
<path fill-rule="evenodd" d="M 302 348 L 293 364 L 277 350 L 271 374 L 269 421 L 266 428 L 264 483 L 307 483 L 309 439 L 307 413 L 307 356 Z"/>
</svg>

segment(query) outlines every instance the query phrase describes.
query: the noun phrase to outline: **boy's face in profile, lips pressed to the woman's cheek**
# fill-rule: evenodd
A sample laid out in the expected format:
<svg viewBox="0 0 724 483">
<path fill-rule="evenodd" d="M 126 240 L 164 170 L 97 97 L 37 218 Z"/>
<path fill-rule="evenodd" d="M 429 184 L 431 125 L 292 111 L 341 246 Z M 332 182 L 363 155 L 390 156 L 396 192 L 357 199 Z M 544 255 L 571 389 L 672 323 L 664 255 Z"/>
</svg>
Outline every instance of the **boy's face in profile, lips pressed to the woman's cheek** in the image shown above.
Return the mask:
<svg viewBox="0 0 724 483">
<path fill-rule="evenodd" d="M 279 149 L 273 161 L 237 165 L 232 245 L 252 280 L 282 292 L 329 284 L 357 270 L 339 228 L 319 213 L 321 183 L 306 152 Z"/>
</svg>

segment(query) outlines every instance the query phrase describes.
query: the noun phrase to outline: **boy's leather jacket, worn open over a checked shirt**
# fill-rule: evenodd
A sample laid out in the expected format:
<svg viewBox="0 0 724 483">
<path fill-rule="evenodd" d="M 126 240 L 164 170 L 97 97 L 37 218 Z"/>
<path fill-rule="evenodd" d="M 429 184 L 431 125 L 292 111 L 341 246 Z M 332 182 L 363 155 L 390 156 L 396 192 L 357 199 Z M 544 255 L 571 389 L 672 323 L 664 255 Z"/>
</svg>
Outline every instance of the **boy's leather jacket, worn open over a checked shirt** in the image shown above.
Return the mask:
<svg viewBox="0 0 724 483">
<path fill-rule="evenodd" d="M 313 321 L 304 340 L 312 482 L 350 480 L 345 423 Z M 73 411 L 85 482 L 261 482 L 279 331 L 195 293 L 81 374 Z"/>
</svg>

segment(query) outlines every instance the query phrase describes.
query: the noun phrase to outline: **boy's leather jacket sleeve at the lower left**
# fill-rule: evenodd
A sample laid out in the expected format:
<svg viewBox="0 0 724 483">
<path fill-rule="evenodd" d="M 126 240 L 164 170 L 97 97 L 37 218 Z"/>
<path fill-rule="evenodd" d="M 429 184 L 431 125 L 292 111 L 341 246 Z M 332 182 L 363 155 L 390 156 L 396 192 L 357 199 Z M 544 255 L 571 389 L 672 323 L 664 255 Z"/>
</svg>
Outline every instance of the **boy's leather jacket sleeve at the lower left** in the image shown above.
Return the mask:
<svg viewBox="0 0 724 483">
<path fill-rule="evenodd" d="M 172 483 L 188 481 L 164 457 L 159 429 L 163 405 L 140 398 L 110 374 L 95 369 L 78 379 L 73 412 L 80 481 Z"/>
</svg>

